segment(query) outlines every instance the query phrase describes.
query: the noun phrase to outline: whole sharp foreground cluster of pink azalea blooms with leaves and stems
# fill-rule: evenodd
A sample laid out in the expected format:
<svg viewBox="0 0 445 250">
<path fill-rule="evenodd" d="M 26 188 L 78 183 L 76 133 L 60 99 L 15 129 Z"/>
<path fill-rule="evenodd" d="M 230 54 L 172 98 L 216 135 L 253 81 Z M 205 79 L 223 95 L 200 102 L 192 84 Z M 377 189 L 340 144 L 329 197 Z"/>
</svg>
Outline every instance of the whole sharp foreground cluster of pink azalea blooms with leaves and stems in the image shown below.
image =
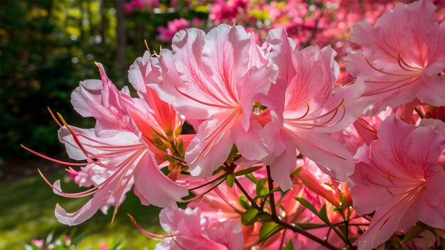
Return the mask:
<svg viewBox="0 0 445 250">
<path fill-rule="evenodd" d="M 336 51 L 300 49 L 284 28 L 259 45 L 242 26 L 179 31 L 172 49 L 146 51 L 119 90 L 85 80 L 73 107 L 95 128 L 58 114 L 75 183 L 92 198 L 76 225 L 113 214 L 134 192 L 165 207 L 166 234 L 135 227 L 156 249 L 406 249 L 443 245 L 445 23 L 429 1 L 397 4 L 356 23 L 339 84 Z M 182 134 L 183 124 L 195 134 Z M 72 167 L 80 166 L 80 170 Z M 187 202 L 186 209 L 177 202 Z M 386 243 L 385 243 L 386 242 Z M 408 243 L 409 242 L 409 246 Z"/>
</svg>

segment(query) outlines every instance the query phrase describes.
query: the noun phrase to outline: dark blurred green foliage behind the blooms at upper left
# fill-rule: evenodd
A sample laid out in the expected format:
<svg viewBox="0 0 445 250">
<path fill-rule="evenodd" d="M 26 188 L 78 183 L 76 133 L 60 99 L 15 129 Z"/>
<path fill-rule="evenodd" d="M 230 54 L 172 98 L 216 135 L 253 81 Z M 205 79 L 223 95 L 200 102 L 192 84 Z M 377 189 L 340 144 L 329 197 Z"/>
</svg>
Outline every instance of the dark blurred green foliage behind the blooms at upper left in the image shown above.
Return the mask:
<svg viewBox="0 0 445 250">
<path fill-rule="evenodd" d="M 161 8 L 168 8 L 161 1 Z M 181 1 L 179 3 L 181 5 Z M 81 80 L 98 79 L 101 62 L 117 85 L 128 85 L 127 70 L 144 54 L 147 40 L 159 51 L 157 27 L 173 18 L 205 17 L 205 12 L 178 8 L 169 13 L 148 10 L 125 15 L 124 62 L 117 60 L 117 1 L 3 0 L 0 2 L 0 158 L 32 157 L 20 144 L 55 155 L 61 152 L 57 124 L 47 107 L 69 124 L 92 126 L 80 119 L 70 94 Z M 201 8 L 203 9 L 203 8 Z M 205 8 L 203 9 L 205 11 Z M 121 64 L 121 65 L 119 65 Z"/>
</svg>

